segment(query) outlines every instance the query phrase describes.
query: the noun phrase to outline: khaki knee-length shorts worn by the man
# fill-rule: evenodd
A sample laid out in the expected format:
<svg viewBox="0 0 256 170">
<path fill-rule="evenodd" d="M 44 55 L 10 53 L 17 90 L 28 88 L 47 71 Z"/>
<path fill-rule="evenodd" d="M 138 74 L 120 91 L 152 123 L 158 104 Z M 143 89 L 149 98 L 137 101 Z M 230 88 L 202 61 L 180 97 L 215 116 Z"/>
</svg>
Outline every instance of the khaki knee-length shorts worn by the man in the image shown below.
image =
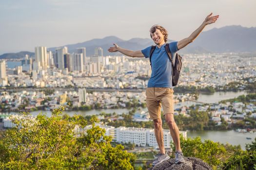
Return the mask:
<svg viewBox="0 0 256 170">
<path fill-rule="evenodd" d="M 161 105 L 163 106 L 163 115 L 174 114 L 173 93 L 172 88 L 166 87 L 148 87 L 146 89 L 146 102 L 150 119 L 161 118 Z"/>
</svg>

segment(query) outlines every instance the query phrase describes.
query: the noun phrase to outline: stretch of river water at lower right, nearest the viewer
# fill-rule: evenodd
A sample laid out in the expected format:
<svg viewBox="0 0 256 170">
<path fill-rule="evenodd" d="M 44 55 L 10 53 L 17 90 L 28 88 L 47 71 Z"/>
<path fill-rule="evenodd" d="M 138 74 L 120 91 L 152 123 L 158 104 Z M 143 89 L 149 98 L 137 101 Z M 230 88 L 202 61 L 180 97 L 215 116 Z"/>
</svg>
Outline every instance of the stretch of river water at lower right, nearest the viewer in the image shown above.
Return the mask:
<svg viewBox="0 0 256 170">
<path fill-rule="evenodd" d="M 254 133 L 239 133 L 234 130 L 231 131 L 188 131 L 187 137 L 195 138 L 200 136 L 204 141 L 205 139 L 210 139 L 214 142 L 219 143 L 229 143 L 231 145 L 241 145 L 241 148 L 245 150 L 246 144 L 252 144 L 256 137 L 256 132 Z M 251 137 L 252 139 L 246 139 L 246 137 Z"/>
</svg>

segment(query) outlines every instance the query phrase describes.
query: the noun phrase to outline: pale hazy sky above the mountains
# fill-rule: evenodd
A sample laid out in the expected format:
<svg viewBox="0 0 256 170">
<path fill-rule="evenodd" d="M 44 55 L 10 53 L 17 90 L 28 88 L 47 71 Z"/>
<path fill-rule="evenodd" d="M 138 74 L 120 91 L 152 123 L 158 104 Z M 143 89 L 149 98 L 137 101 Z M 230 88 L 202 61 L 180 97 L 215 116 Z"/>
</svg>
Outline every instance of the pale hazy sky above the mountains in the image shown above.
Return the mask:
<svg viewBox="0 0 256 170">
<path fill-rule="evenodd" d="M 256 27 L 256 0 L 0 0 L 0 54 L 110 35 L 149 38 L 154 24 L 180 40 L 211 12 L 220 17 L 204 31 Z"/>
</svg>

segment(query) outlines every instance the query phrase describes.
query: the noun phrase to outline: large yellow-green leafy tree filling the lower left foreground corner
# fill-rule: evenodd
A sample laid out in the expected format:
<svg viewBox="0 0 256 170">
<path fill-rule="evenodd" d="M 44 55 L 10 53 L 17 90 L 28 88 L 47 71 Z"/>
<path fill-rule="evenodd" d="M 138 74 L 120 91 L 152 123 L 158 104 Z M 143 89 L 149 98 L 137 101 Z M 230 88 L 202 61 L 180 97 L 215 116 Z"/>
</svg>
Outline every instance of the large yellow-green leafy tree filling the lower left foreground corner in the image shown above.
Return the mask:
<svg viewBox="0 0 256 170">
<path fill-rule="evenodd" d="M 31 119 L 12 118 L 16 127 L 0 136 L 0 169 L 91 169 L 133 170 L 135 156 L 123 146 L 111 146 L 110 136 L 82 116 L 61 116 L 63 107 L 52 117 L 40 114 Z M 86 125 L 91 128 L 79 131 Z"/>
</svg>

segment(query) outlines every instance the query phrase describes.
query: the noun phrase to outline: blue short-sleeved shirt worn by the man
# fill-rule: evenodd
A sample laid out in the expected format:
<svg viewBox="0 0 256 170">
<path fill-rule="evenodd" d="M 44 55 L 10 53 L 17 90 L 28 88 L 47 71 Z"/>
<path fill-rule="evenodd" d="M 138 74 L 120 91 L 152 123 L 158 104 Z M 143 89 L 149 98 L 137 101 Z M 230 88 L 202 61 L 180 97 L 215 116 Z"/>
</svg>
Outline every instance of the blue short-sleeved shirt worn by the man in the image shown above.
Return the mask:
<svg viewBox="0 0 256 170">
<path fill-rule="evenodd" d="M 167 87 L 173 88 L 172 86 L 172 63 L 165 51 L 166 44 L 163 44 L 160 48 L 156 47 L 155 51 L 151 56 L 152 73 L 148 81 L 148 87 Z M 177 41 L 171 42 L 169 48 L 175 61 L 177 48 Z M 141 50 L 145 58 L 149 58 L 150 47 Z"/>
</svg>

